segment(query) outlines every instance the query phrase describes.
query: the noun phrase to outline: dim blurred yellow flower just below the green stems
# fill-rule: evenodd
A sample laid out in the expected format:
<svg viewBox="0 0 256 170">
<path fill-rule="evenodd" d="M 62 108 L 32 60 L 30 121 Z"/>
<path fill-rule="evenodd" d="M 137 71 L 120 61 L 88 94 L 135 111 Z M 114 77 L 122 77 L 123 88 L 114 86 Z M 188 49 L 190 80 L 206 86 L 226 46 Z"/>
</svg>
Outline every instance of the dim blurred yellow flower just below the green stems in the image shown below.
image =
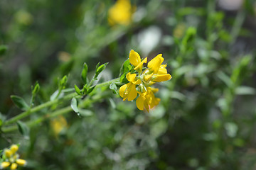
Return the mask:
<svg viewBox="0 0 256 170">
<path fill-rule="evenodd" d="M 58 135 L 64 128 L 67 128 L 68 123 L 67 120 L 63 117 L 63 115 L 59 115 L 58 118 L 55 118 L 50 121 L 50 125 L 53 129 L 54 135 Z"/>
</svg>

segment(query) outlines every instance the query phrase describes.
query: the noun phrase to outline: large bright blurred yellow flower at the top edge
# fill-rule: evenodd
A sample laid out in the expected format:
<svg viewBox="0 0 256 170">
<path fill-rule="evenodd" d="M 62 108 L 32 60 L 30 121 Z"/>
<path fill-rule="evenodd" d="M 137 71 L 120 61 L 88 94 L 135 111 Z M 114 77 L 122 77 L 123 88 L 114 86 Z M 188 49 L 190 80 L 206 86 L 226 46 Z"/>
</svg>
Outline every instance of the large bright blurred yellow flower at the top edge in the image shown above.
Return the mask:
<svg viewBox="0 0 256 170">
<path fill-rule="evenodd" d="M 134 13 L 134 6 L 129 0 L 117 0 L 108 11 L 108 21 L 111 26 L 116 24 L 127 26 L 132 22 L 132 13 Z"/>
</svg>

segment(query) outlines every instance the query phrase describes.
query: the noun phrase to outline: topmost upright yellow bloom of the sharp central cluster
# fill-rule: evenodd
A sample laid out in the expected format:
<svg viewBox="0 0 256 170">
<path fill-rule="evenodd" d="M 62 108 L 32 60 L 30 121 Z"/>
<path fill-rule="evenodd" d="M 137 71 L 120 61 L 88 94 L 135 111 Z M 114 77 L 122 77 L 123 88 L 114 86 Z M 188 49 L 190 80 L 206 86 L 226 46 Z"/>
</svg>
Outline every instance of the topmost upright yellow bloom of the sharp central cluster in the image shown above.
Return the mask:
<svg viewBox="0 0 256 170">
<path fill-rule="evenodd" d="M 129 62 L 134 65 L 134 69 L 141 73 L 143 63 L 146 63 L 147 57 L 142 61 L 141 57 L 139 56 L 138 52 L 134 52 L 134 50 L 131 50 L 129 53 Z"/>
</svg>

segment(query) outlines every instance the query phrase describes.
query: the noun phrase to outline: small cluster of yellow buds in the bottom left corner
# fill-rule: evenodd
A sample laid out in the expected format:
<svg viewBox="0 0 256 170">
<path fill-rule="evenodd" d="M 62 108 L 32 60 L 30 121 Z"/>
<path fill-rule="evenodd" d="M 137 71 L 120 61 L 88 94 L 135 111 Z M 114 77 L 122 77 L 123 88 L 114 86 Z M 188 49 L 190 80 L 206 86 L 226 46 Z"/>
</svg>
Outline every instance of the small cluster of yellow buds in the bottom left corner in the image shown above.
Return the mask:
<svg viewBox="0 0 256 170">
<path fill-rule="evenodd" d="M 10 168 L 11 170 L 17 169 L 18 165 L 23 166 L 26 164 L 24 159 L 19 159 L 19 155 L 16 153 L 18 151 L 18 145 L 11 145 L 10 149 L 4 149 L 3 159 L 1 162 L 0 169 Z"/>
</svg>

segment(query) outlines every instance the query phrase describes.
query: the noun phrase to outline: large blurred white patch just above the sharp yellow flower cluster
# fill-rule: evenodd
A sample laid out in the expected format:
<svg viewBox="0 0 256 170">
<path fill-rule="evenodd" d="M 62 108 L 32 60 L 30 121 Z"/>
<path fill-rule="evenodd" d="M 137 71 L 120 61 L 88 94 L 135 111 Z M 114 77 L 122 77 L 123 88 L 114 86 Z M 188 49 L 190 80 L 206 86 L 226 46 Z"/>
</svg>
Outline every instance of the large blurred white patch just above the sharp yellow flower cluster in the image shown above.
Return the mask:
<svg viewBox="0 0 256 170">
<path fill-rule="evenodd" d="M 159 27 L 151 26 L 143 30 L 138 35 L 139 49 L 142 50 L 144 56 L 149 55 L 149 52 L 159 44 L 161 39 L 161 30 Z"/>
</svg>

